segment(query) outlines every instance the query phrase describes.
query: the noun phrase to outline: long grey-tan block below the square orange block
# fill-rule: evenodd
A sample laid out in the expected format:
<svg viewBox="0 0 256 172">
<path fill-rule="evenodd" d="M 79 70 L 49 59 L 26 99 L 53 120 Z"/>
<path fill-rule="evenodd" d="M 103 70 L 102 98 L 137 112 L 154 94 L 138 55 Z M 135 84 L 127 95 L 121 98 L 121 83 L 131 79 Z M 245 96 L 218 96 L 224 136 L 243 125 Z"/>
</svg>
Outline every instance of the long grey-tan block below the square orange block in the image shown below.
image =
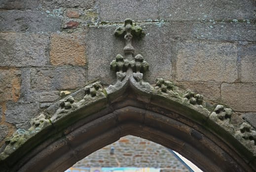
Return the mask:
<svg viewBox="0 0 256 172">
<path fill-rule="evenodd" d="M 84 86 L 85 68 L 41 68 L 31 70 L 31 88 L 33 90 L 62 90 Z"/>
</svg>

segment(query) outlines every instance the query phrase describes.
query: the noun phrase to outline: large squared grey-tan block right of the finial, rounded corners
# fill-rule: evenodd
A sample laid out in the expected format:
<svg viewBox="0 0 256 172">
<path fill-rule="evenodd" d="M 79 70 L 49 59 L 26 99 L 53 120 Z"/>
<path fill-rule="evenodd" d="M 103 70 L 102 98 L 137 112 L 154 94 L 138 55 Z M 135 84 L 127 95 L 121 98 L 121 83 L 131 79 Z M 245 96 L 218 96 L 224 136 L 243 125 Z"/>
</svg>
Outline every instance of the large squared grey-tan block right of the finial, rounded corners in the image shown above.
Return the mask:
<svg viewBox="0 0 256 172">
<path fill-rule="evenodd" d="M 235 44 L 185 41 L 178 49 L 178 81 L 234 82 L 237 79 Z"/>
</svg>

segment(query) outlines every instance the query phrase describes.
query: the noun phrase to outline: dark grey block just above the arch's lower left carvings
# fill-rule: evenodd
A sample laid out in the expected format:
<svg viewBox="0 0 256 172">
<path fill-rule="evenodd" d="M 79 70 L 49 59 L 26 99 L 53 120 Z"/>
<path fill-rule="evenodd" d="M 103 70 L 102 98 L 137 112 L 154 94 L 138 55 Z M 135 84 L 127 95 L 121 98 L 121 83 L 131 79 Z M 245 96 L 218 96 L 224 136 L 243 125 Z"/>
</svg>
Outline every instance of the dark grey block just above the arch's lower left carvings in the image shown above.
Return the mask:
<svg viewBox="0 0 256 172">
<path fill-rule="evenodd" d="M 39 113 L 39 103 L 21 104 L 9 101 L 6 103 L 6 107 L 6 122 L 22 129 L 28 129 L 32 117 Z"/>
</svg>

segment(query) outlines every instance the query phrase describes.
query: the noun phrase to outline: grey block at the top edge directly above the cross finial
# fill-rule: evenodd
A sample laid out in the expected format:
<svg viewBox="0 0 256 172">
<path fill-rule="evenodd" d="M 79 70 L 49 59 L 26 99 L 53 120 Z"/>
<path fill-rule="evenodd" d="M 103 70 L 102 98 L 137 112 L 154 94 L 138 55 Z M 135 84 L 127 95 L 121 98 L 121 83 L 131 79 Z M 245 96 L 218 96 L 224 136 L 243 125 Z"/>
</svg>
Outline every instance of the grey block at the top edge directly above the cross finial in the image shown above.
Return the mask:
<svg viewBox="0 0 256 172">
<path fill-rule="evenodd" d="M 157 0 L 100 0 L 100 20 L 123 22 L 126 18 L 135 21 L 152 21 L 158 18 Z"/>
</svg>

